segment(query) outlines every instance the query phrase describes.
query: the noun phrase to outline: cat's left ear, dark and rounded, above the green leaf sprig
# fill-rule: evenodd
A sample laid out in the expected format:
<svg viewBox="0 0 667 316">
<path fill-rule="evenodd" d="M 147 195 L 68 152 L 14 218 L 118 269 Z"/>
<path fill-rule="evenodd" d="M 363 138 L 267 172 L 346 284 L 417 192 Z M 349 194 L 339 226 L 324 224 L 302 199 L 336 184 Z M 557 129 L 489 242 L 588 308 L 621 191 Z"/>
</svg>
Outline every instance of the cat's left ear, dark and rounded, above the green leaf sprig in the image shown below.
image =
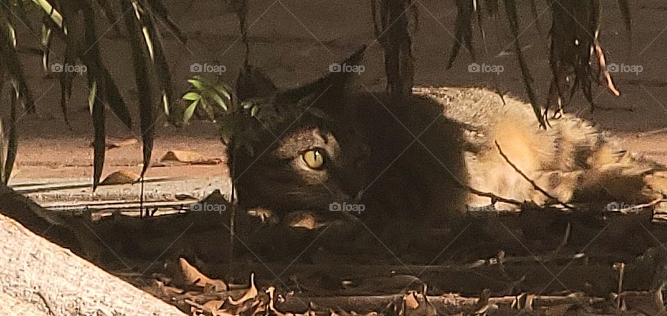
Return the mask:
<svg viewBox="0 0 667 316">
<path fill-rule="evenodd" d="M 236 78 L 236 97 L 240 101 L 270 98 L 277 91 L 276 85 L 259 67 L 244 65 Z"/>
</svg>

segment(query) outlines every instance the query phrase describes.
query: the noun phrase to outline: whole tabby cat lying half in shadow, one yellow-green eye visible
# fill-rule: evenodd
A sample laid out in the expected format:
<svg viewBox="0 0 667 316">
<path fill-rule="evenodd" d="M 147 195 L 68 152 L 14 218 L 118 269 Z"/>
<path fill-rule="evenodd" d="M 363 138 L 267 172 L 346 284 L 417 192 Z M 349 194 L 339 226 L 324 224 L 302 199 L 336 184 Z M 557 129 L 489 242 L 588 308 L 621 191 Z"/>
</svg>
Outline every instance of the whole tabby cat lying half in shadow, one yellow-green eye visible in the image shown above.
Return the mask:
<svg viewBox="0 0 667 316">
<path fill-rule="evenodd" d="M 340 65 L 359 65 L 363 50 Z M 472 208 L 518 208 L 493 197 L 600 209 L 664 193 L 659 165 L 574 115 L 542 129 L 529 103 L 491 90 L 422 87 L 392 101 L 357 77 L 330 72 L 279 90 L 243 69 L 238 98 L 258 106 L 238 113 L 252 117 L 250 127 L 227 147 L 240 206 L 279 218 L 354 215 L 391 239 L 442 228 Z"/>
</svg>

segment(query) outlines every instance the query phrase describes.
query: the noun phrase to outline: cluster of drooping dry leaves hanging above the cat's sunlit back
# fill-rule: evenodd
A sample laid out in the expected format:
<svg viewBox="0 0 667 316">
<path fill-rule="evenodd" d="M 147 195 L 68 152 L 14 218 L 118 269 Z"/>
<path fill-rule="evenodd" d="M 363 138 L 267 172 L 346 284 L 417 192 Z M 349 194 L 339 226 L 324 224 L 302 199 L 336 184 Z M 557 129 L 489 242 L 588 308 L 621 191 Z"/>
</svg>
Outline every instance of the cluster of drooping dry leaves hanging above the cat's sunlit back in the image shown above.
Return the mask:
<svg viewBox="0 0 667 316">
<path fill-rule="evenodd" d="M 386 14 L 380 15 L 384 19 L 377 19 L 378 11 L 383 13 L 388 10 L 384 7 L 377 10 L 376 6 L 378 3 L 379 5 L 386 5 L 387 2 L 381 0 L 372 1 L 376 35 L 381 34 L 381 31 L 384 31 L 389 24 Z M 597 80 L 598 84 L 603 84 L 606 81 L 607 89 L 616 96 L 620 95 L 607 69 L 607 61 L 602 46 L 598 42 L 598 35 L 600 33 L 600 0 L 550 1 L 552 27 L 549 32 L 551 38 L 549 63 L 553 78 L 550 84 L 547 103 L 543 110 L 538 104 L 536 93 L 532 88 L 532 78 L 528 65 L 520 49 L 518 3 L 527 3 L 534 18 L 538 17 L 538 11 L 534 0 L 529 2 L 516 0 L 504 1 L 505 14 L 507 15 L 507 22 L 513 37 L 522 79 L 525 83 L 526 92 L 534 113 L 543 128 L 548 124 L 547 113 L 553 110 L 554 117 L 563 113 L 563 108 L 567 106 L 567 103 L 570 102 L 577 90 L 582 90 L 584 97 L 591 104 L 591 110 L 593 110 L 595 108 L 591 92 L 593 80 Z M 456 34 L 454 35 L 455 41 L 452 45 L 450 56 L 447 59 L 447 68 L 450 68 L 456 57 L 459 56 L 461 47 L 465 47 L 470 52 L 472 59 L 475 60 L 475 51 L 472 45 L 472 24 L 474 24 L 472 16 L 477 12 L 477 23 L 479 24 L 479 28 L 481 28 L 481 36 L 484 42 L 486 36 L 483 29 L 484 14 L 491 17 L 497 16 L 500 1 L 456 0 L 455 4 L 457 10 L 455 22 Z M 618 0 L 618 7 L 623 16 L 630 43 L 632 44 L 629 1 Z M 536 23 L 536 27 L 538 28 L 538 33 L 542 34 L 539 22 Z M 395 69 L 390 67 L 391 65 L 395 65 L 395 61 L 392 59 L 395 53 L 386 53 L 386 56 L 387 75 L 390 77 L 395 72 Z"/>
</svg>

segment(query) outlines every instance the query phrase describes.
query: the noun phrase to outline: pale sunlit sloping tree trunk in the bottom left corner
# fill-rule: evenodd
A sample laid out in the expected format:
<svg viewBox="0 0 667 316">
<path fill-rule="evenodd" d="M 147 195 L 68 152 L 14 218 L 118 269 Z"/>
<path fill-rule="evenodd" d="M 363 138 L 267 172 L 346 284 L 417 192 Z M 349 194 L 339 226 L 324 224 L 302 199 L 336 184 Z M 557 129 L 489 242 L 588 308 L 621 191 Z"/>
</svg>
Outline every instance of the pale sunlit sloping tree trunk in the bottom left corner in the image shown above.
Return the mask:
<svg viewBox="0 0 667 316">
<path fill-rule="evenodd" d="M 31 201 L 2 191 L 0 213 L 31 212 L 10 210 Z M 4 215 L 0 240 L 0 315 L 184 315 Z"/>
</svg>

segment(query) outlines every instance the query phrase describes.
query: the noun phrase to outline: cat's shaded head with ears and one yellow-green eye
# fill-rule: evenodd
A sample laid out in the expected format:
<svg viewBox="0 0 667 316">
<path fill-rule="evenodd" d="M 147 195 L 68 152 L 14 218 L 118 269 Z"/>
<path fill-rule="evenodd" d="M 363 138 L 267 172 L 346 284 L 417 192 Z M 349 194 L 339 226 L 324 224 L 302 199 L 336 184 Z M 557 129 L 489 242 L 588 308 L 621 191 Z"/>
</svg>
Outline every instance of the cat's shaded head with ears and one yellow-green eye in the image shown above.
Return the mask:
<svg viewBox="0 0 667 316">
<path fill-rule="evenodd" d="M 364 49 L 340 65 L 359 65 Z M 228 147 L 241 206 L 278 214 L 319 212 L 361 197 L 370 149 L 359 128 L 355 77 L 329 72 L 313 83 L 279 90 L 258 69 L 242 70 L 237 94 L 252 128 L 234 135 Z"/>
</svg>

